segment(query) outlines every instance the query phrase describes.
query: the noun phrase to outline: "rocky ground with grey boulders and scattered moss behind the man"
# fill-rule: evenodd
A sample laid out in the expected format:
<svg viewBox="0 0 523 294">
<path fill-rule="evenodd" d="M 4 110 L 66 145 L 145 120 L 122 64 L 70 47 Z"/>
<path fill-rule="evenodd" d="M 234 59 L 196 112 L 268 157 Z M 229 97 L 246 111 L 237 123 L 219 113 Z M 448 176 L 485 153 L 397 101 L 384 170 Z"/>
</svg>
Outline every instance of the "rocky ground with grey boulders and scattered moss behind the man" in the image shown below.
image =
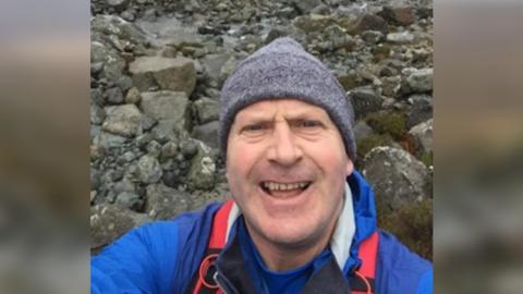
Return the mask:
<svg viewBox="0 0 523 294">
<path fill-rule="evenodd" d="M 431 258 L 429 0 L 92 0 L 92 250 L 228 195 L 217 128 L 234 66 L 279 36 L 327 64 L 355 113 L 380 224 Z"/>
</svg>

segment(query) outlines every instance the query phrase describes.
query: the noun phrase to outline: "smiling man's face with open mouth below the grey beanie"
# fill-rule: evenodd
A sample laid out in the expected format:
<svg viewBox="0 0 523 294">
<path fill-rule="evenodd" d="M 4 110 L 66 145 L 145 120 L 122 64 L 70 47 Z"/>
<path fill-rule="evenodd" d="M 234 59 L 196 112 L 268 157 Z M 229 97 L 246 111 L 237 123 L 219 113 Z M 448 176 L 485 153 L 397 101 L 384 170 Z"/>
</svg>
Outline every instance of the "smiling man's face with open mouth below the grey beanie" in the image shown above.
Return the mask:
<svg viewBox="0 0 523 294">
<path fill-rule="evenodd" d="M 244 108 L 229 133 L 227 179 L 255 242 L 308 246 L 328 240 L 352 169 L 327 112 L 295 99 Z"/>
</svg>

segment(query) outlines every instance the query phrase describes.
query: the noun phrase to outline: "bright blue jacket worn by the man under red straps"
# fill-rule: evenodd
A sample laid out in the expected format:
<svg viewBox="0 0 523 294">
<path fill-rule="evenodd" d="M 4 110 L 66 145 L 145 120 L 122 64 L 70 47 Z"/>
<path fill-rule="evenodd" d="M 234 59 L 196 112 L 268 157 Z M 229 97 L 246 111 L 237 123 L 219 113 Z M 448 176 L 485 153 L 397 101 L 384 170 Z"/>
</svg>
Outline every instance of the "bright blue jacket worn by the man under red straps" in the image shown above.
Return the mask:
<svg viewBox="0 0 523 294">
<path fill-rule="evenodd" d="M 374 194 L 368 184 L 355 171 L 348 183 L 356 224 L 350 257 L 342 269 L 349 279 L 351 270 L 361 264 L 357 250 L 362 241 L 377 226 Z M 219 206 L 212 204 L 200 211 L 126 233 L 92 258 L 92 293 L 185 293 L 207 248 L 212 216 Z M 431 264 L 389 233 L 379 234 L 376 293 L 433 293 Z M 223 252 L 234 238 L 229 238 Z"/>
</svg>

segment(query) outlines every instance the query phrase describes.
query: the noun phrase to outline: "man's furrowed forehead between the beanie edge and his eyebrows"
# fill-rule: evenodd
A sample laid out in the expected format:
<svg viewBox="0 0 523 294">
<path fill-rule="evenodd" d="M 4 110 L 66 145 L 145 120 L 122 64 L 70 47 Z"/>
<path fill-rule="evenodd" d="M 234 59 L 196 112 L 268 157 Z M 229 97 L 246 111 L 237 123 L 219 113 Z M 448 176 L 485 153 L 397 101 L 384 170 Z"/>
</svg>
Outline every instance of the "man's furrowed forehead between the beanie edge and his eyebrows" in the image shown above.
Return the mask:
<svg viewBox="0 0 523 294">
<path fill-rule="evenodd" d="M 297 99 L 272 99 L 263 100 L 243 108 L 236 113 L 235 120 L 268 119 L 277 114 L 285 118 L 315 117 L 317 119 L 330 119 L 323 108 L 315 105 Z"/>
</svg>

